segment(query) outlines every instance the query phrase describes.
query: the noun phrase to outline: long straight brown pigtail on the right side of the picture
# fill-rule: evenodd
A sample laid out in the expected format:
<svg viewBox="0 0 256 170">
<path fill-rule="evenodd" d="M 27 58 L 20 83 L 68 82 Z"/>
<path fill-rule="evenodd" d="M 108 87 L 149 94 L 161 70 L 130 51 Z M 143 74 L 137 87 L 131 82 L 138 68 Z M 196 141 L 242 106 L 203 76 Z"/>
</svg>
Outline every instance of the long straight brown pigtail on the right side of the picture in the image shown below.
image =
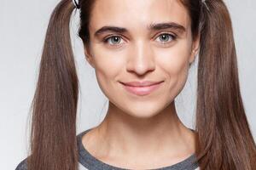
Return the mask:
<svg viewBox="0 0 256 170">
<path fill-rule="evenodd" d="M 256 169 L 256 148 L 241 99 L 230 14 L 201 3 L 196 130 L 201 169 Z"/>
</svg>

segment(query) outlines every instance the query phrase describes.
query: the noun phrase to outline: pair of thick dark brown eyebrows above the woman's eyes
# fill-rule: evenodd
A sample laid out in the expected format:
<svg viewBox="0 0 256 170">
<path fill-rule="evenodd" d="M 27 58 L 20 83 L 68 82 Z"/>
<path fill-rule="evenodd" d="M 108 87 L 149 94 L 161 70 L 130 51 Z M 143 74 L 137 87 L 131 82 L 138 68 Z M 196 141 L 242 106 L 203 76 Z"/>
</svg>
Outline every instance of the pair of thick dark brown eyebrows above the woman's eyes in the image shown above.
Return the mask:
<svg viewBox="0 0 256 170">
<path fill-rule="evenodd" d="M 150 24 L 148 27 L 148 30 L 150 31 L 160 31 L 163 29 L 174 29 L 177 31 L 186 31 L 185 27 L 182 25 L 179 25 L 175 22 L 167 22 L 167 23 L 158 23 L 158 24 Z M 118 33 L 125 33 L 128 32 L 126 28 L 118 27 L 118 26 L 103 26 L 99 30 L 95 32 L 95 36 L 99 36 L 100 34 L 107 32 L 107 31 L 113 31 Z"/>
</svg>

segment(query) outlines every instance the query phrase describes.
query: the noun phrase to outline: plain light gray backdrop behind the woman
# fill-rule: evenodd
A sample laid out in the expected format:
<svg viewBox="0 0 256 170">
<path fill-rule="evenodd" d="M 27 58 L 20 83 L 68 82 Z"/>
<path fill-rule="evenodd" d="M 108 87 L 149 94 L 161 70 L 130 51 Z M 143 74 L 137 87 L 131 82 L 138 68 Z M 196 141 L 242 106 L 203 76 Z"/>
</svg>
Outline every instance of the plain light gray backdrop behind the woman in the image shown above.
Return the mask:
<svg viewBox="0 0 256 170">
<path fill-rule="evenodd" d="M 0 167 L 15 169 L 26 157 L 29 136 L 28 111 L 34 94 L 38 63 L 51 14 L 59 0 L 0 0 Z M 230 9 L 237 50 L 242 99 L 253 137 L 256 138 L 256 1 L 225 0 Z M 108 99 L 99 88 L 94 70 L 84 59 L 82 42 L 76 36 L 79 11 L 73 14 L 72 42 L 79 71 L 78 133 L 99 124 Z M 183 123 L 195 127 L 196 65 L 177 97 L 177 112 Z"/>
</svg>

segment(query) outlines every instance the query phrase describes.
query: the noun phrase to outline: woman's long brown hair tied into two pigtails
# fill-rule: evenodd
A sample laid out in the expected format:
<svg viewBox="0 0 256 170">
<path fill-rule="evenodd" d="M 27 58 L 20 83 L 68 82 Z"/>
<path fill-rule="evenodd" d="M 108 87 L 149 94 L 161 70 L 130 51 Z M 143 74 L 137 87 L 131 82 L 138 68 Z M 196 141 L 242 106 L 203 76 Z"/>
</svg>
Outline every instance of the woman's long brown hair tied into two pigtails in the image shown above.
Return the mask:
<svg viewBox="0 0 256 170">
<path fill-rule="evenodd" d="M 80 0 L 79 37 L 90 42 L 93 0 Z M 196 157 L 201 169 L 256 169 L 256 147 L 241 99 L 230 14 L 222 0 L 181 0 L 200 36 L 196 99 Z M 72 0 L 50 16 L 32 100 L 29 170 L 77 170 L 79 80 L 70 40 Z"/>
</svg>

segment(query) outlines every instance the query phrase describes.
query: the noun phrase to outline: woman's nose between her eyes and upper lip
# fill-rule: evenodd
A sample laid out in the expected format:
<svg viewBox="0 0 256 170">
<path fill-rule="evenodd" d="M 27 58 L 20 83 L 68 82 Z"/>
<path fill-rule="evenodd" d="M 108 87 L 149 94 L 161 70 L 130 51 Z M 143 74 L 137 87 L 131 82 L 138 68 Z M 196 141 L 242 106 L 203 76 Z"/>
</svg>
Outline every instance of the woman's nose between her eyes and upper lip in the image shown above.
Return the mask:
<svg viewBox="0 0 256 170">
<path fill-rule="evenodd" d="M 144 75 L 148 71 L 154 71 L 154 69 L 154 53 L 150 44 L 143 41 L 137 42 L 129 53 L 126 71 Z"/>
</svg>

